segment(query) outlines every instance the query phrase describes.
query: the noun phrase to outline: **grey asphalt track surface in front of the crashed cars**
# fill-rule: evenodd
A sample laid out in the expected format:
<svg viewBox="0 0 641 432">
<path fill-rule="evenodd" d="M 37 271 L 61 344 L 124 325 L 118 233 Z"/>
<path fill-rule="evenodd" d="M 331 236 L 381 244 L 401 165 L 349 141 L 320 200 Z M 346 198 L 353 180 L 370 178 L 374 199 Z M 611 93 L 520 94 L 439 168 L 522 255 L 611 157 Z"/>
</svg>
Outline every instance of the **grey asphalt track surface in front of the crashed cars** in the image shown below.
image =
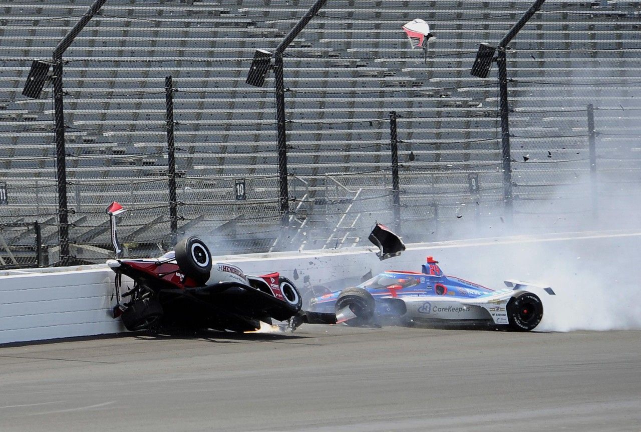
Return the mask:
<svg viewBox="0 0 641 432">
<path fill-rule="evenodd" d="M 641 332 L 303 326 L 0 348 L 0 430 L 639 431 Z"/>
</svg>

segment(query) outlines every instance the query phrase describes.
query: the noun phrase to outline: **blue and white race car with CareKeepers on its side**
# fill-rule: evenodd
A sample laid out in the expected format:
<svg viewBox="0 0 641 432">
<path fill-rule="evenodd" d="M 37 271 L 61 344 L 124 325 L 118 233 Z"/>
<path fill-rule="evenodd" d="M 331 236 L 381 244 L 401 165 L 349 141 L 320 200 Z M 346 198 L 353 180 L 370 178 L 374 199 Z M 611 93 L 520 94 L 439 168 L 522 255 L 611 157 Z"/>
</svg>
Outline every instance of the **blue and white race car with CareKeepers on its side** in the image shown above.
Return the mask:
<svg viewBox="0 0 641 432">
<path fill-rule="evenodd" d="M 433 257 L 420 273 L 384 271 L 356 287 L 312 298 L 307 310 L 335 314 L 337 323 L 368 326 L 399 324 L 484 324 L 529 332 L 543 317 L 541 298 L 550 287 L 506 280 L 507 288 L 492 290 L 446 276 Z"/>
</svg>

